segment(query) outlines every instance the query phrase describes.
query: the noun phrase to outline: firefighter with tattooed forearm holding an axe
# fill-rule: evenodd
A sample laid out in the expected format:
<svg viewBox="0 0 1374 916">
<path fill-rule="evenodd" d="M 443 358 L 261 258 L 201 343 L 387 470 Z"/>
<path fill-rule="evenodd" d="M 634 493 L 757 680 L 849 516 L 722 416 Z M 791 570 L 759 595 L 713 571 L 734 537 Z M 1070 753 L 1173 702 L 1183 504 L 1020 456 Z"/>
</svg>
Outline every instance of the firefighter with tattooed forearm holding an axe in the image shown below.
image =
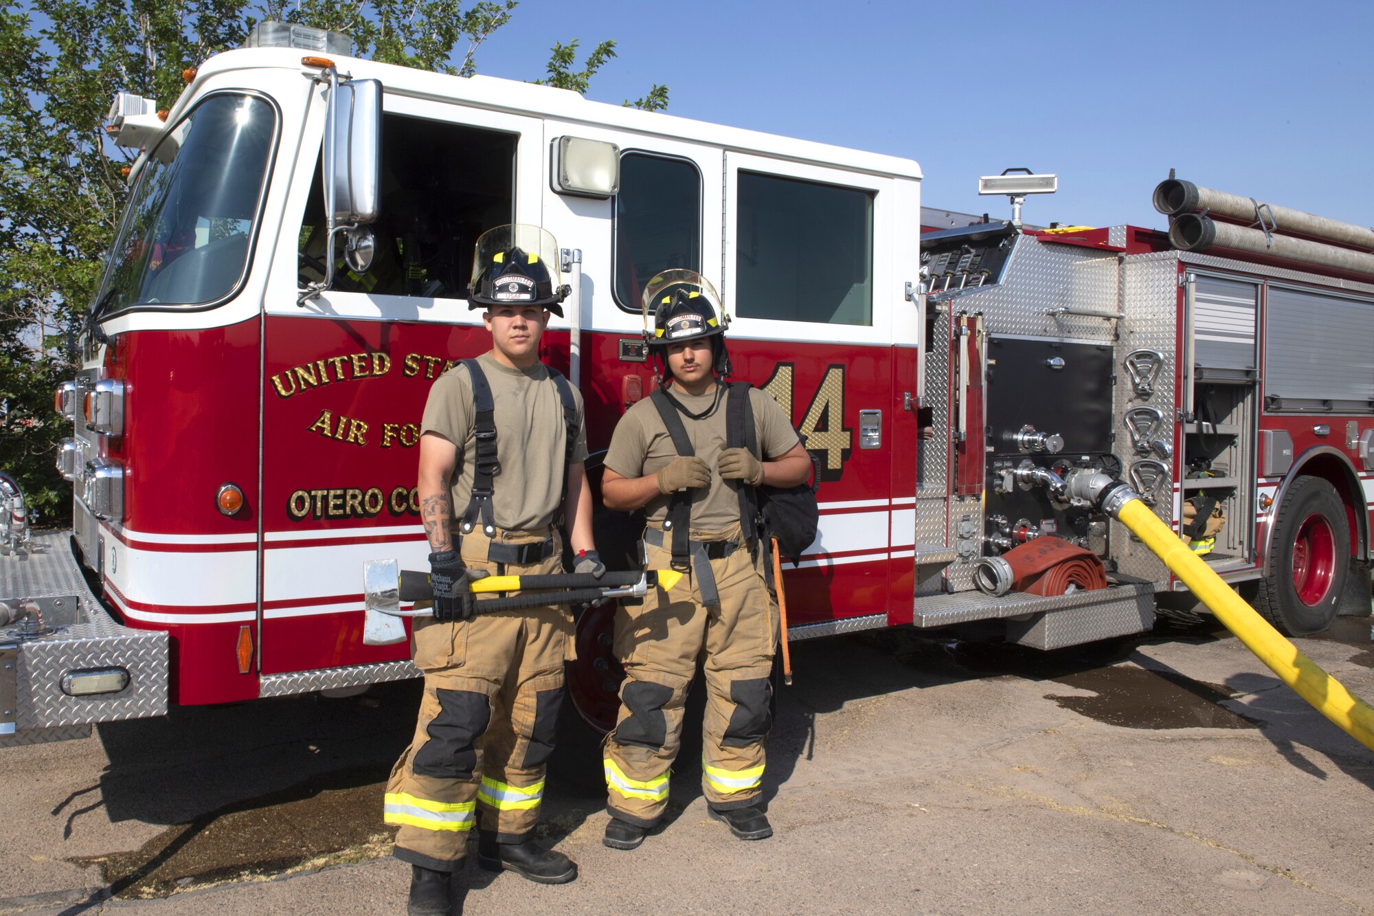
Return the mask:
<svg viewBox="0 0 1374 916">
<path fill-rule="evenodd" d="M 414 630 L 425 696 L 385 813 L 400 825 L 396 857 L 412 865 L 411 913 L 449 912 L 449 875 L 474 824 L 482 868 L 545 884 L 577 877 L 574 862 L 533 840 L 572 615 L 556 607 L 484 615 L 467 589 L 484 575 L 561 572 L 559 516 L 574 571 L 605 572 L 592 543 L 583 400 L 539 360 L 548 315 L 562 315 L 567 294 L 556 257 L 556 242 L 537 227 L 482 234 L 469 308 L 485 308 L 492 349 L 444 373 L 425 404 L 419 499 L 434 618 Z"/>
</svg>

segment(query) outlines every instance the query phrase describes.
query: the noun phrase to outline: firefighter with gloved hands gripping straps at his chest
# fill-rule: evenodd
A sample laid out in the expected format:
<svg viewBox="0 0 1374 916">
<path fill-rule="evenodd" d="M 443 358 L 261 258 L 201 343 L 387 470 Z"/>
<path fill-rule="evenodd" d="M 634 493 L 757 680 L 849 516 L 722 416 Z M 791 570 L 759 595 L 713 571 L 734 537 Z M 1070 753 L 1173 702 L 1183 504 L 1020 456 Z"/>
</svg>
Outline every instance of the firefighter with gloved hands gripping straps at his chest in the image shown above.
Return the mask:
<svg viewBox="0 0 1374 916">
<path fill-rule="evenodd" d="M 605 743 L 611 814 L 605 844 L 635 849 L 662 817 L 698 657 L 706 678 L 702 791 L 709 813 L 741 839 L 765 839 L 772 828 L 760 796 L 778 607 L 741 490 L 796 486 L 811 461 L 772 397 L 745 386 L 741 395 L 764 459 L 727 447 L 728 318 L 708 281 L 692 271 L 665 271 L 644 290 L 646 325 L 650 307 L 650 349 L 662 362 L 666 388 L 638 402 L 616 426 L 602 498 L 609 509 L 644 508 L 649 568 L 675 565 L 687 575 L 639 607 L 617 609 L 614 651 L 625 682 Z M 675 433 L 686 433 L 690 446 L 676 446 Z"/>
</svg>

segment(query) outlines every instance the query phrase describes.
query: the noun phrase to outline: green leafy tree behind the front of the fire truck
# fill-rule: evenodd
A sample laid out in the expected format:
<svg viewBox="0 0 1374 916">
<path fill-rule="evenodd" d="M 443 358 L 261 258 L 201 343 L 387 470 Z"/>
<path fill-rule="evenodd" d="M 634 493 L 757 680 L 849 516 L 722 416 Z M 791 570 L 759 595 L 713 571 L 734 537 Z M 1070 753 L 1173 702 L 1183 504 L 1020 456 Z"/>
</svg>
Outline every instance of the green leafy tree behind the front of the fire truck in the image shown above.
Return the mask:
<svg viewBox="0 0 1374 916">
<path fill-rule="evenodd" d="M 251 6 L 250 6 L 251 4 Z M 52 391 L 73 377 L 69 345 L 100 279 L 126 194 L 129 150 L 104 140 L 124 89 L 170 107 L 181 72 L 238 47 L 260 19 L 337 29 L 357 56 L 475 73 L 481 44 L 517 0 L 0 0 L 0 470 L 32 506 L 66 514 L 54 468 L 66 421 Z M 573 73 L 577 41 L 556 45 L 550 85 L 587 91 L 603 41 Z M 558 81 L 555 81 L 558 80 Z M 636 102 L 668 103 L 665 87 Z M 628 102 L 627 102 L 628 105 Z"/>
</svg>

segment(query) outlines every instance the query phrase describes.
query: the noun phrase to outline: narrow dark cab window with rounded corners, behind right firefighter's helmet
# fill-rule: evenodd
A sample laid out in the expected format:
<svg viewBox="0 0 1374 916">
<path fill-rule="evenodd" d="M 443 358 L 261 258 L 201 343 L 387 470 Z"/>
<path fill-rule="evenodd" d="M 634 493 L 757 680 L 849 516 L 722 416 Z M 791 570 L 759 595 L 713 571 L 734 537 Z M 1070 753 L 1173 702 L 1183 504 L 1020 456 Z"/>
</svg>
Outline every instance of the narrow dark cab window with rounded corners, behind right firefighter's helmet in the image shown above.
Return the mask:
<svg viewBox="0 0 1374 916">
<path fill-rule="evenodd" d="M 639 314 L 644 285 L 675 267 L 701 270 L 701 173 L 687 160 L 625 153 L 616 195 L 616 303 Z"/>
</svg>

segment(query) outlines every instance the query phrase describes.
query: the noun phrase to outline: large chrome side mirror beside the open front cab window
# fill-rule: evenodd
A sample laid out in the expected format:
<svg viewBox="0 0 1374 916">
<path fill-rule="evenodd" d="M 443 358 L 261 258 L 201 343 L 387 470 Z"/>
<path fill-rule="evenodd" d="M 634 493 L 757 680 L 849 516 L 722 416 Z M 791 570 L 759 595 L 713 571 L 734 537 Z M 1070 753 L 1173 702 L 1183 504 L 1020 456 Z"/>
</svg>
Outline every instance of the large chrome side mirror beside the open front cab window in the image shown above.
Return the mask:
<svg viewBox="0 0 1374 916">
<path fill-rule="evenodd" d="M 350 80 L 334 92 L 334 124 L 324 151 L 334 187 L 334 223 L 371 223 L 381 191 L 382 83 Z"/>
</svg>

